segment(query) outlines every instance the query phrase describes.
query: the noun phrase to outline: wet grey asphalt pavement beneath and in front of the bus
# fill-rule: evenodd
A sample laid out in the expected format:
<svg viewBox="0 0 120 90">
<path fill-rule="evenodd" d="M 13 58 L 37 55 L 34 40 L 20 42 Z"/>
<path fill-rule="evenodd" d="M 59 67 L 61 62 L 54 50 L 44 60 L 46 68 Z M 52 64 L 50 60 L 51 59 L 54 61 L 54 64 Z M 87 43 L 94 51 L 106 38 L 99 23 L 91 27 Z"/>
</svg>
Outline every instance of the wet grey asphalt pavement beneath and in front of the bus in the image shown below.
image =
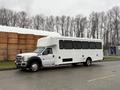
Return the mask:
<svg viewBox="0 0 120 90">
<path fill-rule="evenodd" d="M 0 71 L 0 90 L 120 90 L 120 61 L 44 68 L 35 73 Z"/>
</svg>

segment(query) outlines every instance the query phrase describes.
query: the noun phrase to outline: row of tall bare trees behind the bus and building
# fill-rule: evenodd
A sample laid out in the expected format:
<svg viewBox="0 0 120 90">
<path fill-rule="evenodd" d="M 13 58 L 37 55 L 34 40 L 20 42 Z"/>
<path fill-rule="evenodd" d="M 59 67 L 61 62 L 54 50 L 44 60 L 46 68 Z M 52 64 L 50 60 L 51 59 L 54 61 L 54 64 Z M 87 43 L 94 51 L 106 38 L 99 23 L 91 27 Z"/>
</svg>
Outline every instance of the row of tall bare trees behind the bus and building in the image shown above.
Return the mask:
<svg viewBox="0 0 120 90">
<path fill-rule="evenodd" d="M 55 31 L 62 36 L 100 38 L 104 47 L 120 45 L 120 8 L 106 12 L 92 12 L 88 17 L 81 14 L 71 16 L 29 16 L 25 11 L 15 12 L 0 8 L 0 25 L 20 28 Z"/>
</svg>

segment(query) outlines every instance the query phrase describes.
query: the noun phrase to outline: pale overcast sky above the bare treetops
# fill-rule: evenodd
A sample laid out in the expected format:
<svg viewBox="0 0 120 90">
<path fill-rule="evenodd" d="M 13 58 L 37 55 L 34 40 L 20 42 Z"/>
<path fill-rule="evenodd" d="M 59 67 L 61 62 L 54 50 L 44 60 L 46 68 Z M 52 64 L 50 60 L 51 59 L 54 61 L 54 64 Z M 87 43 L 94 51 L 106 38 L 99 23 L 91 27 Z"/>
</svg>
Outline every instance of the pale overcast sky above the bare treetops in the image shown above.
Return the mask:
<svg viewBox="0 0 120 90">
<path fill-rule="evenodd" d="M 46 16 L 88 16 L 92 11 L 106 11 L 113 6 L 120 6 L 120 0 L 0 0 L 0 7 Z"/>
</svg>

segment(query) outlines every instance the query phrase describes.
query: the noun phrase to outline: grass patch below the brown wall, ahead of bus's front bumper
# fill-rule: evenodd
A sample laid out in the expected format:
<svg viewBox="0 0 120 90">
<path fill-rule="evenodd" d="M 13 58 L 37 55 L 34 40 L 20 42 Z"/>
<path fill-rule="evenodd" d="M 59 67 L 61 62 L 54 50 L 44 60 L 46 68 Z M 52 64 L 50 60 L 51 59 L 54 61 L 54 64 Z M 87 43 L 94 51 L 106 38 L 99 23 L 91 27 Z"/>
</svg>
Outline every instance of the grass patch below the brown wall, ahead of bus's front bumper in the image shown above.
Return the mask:
<svg viewBox="0 0 120 90">
<path fill-rule="evenodd" d="M 16 68 L 14 61 L 0 61 L 0 69 Z"/>
</svg>

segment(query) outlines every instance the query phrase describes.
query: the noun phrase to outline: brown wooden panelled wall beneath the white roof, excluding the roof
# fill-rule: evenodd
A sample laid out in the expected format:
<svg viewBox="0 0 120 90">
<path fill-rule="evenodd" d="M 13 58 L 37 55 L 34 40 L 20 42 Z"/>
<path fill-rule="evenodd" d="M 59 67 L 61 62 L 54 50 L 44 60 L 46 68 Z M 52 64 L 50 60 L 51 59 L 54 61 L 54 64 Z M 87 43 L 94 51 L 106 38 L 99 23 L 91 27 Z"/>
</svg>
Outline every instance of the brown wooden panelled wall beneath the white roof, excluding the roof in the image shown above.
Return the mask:
<svg viewBox="0 0 120 90">
<path fill-rule="evenodd" d="M 0 32 L 0 60 L 15 60 L 16 54 L 31 52 L 43 36 Z"/>
</svg>

